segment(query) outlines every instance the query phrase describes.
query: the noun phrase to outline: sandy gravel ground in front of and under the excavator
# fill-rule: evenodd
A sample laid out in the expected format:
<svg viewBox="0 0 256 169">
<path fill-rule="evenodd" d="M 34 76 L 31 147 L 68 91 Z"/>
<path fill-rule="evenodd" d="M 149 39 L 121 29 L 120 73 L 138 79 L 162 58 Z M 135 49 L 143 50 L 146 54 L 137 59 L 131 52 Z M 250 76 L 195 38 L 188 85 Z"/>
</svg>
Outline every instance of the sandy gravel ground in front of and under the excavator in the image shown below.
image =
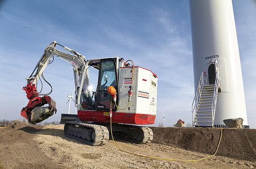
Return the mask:
<svg viewBox="0 0 256 169">
<path fill-rule="evenodd" d="M 104 146 L 90 146 L 67 138 L 64 125 L 28 126 L 16 124 L 0 129 L 0 169 L 212 169 L 256 168 L 255 161 L 213 156 L 201 161 L 170 161 L 125 153 L 177 160 L 196 160 L 211 154 L 151 142 L 134 144 L 109 140 Z M 157 134 L 156 134 L 157 135 Z"/>
</svg>

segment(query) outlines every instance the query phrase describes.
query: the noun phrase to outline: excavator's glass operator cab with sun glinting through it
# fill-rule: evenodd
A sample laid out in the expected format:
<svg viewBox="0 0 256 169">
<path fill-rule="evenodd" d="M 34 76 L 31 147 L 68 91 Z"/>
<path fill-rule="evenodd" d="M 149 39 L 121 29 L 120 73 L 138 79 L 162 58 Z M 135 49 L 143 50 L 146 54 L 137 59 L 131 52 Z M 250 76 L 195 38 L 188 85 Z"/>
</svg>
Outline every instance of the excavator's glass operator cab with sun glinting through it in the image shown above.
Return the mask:
<svg viewBox="0 0 256 169">
<path fill-rule="evenodd" d="M 108 86 L 113 86 L 117 90 L 116 59 L 108 58 L 88 62 L 86 67 L 88 71 L 80 96 L 81 110 L 108 111 L 110 108 L 116 110 L 107 91 Z"/>
</svg>

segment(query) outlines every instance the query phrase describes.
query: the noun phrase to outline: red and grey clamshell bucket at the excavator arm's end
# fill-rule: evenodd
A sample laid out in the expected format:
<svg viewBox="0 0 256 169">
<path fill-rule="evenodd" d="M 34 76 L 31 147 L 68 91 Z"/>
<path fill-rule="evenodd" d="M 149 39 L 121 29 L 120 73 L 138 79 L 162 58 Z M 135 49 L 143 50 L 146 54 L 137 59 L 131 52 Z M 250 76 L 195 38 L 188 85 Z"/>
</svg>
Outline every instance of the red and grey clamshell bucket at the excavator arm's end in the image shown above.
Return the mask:
<svg viewBox="0 0 256 169">
<path fill-rule="evenodd" d="M 48 104 L 49 106 L 44 106 Z M 34 97 L 29 100 L 28 106 L 23 107 L 20 115 L 31 124 L 44 121 L 57 112 L 56 102 L 50 96 Z"/>
</svg>

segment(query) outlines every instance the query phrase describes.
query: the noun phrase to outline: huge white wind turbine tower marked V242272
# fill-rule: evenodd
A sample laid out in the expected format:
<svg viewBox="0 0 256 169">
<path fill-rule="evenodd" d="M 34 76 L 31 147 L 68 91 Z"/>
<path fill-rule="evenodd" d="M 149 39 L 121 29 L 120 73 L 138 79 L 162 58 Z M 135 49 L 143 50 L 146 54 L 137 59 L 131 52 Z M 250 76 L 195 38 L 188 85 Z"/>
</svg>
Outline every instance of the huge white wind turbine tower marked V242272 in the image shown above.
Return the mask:
<svg viewBox="0 0 256 169">
<path fill-rule="evenodd" d="M 218 93 L 214 125 L 243 118 L 248 125 L 232 0 L 190 0 L 194 84 L 202 71 L 219 63 L 222 90 Z"/>
</svg>

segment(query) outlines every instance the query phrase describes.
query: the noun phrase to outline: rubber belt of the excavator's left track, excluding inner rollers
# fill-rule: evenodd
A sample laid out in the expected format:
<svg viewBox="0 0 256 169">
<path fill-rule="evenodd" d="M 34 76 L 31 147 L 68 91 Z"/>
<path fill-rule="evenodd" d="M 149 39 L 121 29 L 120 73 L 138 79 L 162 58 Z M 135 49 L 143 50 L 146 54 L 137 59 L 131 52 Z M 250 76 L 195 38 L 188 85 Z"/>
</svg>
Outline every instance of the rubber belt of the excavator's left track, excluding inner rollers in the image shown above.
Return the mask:
<svg viewBox="0 0 256 169">
<path fill-rule="evenodd" d="M 77 137 L 72 134 L 68 134 L 68 126 L 83 126 L 83 129 L 93 129 L 95 132 L 95 140 L 88 141 L 84 138 Z M 108 128 L 105 126 L 99 126 L 95 124 L 89 124 L 89 123 L 83 123 L 83 122 L 66 122 L 64 126 L 64 135 L 69 138 L 74 138 L 76 140 L 79 140 L 81 142 L 84 142 L 88 145 L 105 145 L 108 142 L 109 133 Z"/>
</svg>

